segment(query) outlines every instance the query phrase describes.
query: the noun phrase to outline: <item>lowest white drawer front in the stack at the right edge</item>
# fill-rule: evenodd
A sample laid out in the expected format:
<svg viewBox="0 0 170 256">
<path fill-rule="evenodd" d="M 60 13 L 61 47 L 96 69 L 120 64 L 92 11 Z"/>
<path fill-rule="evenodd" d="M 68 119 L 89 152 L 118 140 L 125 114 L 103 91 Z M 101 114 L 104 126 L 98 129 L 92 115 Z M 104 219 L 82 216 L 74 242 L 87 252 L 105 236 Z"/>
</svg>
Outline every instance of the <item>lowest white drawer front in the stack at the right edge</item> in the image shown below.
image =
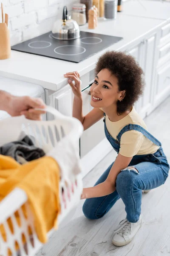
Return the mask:
<svg viewBox="0 0 170 256">
<path fill-rule="evenodd" d="M 157 77 L 156 95 L 162 93 L 170 86 L 170 63 L 164 69 L 159 70 Z"/>
</svg>

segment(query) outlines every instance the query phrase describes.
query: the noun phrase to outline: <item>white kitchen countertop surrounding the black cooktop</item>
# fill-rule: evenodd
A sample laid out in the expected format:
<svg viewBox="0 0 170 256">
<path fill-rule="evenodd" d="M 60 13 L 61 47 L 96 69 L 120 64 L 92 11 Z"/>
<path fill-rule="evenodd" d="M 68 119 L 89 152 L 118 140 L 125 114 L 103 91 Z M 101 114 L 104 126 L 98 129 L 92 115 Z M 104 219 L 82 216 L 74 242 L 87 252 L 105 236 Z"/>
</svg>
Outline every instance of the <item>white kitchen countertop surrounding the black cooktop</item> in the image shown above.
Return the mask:
<svg viewBox="0 0 170 256">
<path fill-rule="evenodd" d="M 135 0 L 133 0 L 133 3 L 134 2 Z M 88 73 L 90 70 L 94 69 L 97 59 L 106 50 L 129 49 L 134 42 L 137 44 L 144 38 L 144 36 L 149 34 L 150 31 L 163 26 L 164 23 L 166 23 L 166 20 L 123 15 L 123 12 L 118 13 L 116 20 L 99 20 L 96 29 L 89 30 L 87 24 L 81 26 L 81 30 L 83 31 L 123 37 L 123 40 L 98 52 L 90 58 L 76 64 L 68 61 L 11 51 L 10 59 L 0 60 L 0 75 L 40 84 L 46 89 L 58 90 L 68 84 L 67 79 L 63 77 L 64 73 L 78 71 L 80 76 Z"/>
</svg>

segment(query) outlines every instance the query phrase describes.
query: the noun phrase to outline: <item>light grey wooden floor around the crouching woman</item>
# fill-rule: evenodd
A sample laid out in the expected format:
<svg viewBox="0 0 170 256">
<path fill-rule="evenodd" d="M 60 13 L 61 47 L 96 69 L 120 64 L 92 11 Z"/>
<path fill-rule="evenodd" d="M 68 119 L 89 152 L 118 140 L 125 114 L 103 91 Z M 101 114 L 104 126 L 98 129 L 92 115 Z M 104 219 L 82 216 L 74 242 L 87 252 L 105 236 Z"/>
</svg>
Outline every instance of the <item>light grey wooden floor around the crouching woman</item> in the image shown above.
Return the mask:
<svg viewBox="0 0 170 256">
<path fill-rule="evenodd" d="M 153 136 L 161 141 L 170 162 L 170 97 L 145 119 Z M 83 180 L 94 186 L 102 172 L 113 162 L 111 151 Z M 113 230 L 125 218 L 120 199 L 99 220 L 88 220 L 81 200 L 72 221 L 51 236 L 37 256 L 170 256 L 170 178 L 166 183 L 142 195 L 144 224 L 134 240 L 124 247 L 112 244 Z"/>
</svg>

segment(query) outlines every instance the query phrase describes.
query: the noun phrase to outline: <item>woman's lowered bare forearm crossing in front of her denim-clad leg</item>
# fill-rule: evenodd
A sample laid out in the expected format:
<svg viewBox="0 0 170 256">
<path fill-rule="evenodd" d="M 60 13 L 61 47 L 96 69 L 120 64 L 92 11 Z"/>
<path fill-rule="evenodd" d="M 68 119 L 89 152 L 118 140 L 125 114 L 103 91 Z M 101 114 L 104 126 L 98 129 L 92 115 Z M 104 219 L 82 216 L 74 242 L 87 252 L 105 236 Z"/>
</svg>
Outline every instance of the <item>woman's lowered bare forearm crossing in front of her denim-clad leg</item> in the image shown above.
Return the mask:
<svg viewBox="0 0 170 256">
<path fill-rule="evenodd" d="M 84 198 L 101 197 L 101 196 L 105 196 L 105 195 L 110 195 L 115 190 L 116 190 L 116 188 L 113 185 L 113 183 L 105 180 L 104 182 L 102 182 L 94 187 L 83 189 L 83 197 Z"/>
</svg>

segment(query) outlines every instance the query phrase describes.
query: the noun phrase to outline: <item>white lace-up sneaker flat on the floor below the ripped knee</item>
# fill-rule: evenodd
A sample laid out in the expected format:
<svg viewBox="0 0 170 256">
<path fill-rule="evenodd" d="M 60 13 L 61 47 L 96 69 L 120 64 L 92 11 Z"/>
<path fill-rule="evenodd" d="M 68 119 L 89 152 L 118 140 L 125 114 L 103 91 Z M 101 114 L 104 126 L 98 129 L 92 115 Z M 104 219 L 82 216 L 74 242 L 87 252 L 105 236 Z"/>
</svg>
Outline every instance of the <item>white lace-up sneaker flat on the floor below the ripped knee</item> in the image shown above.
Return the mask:
<svg viewBox="0 0 170 256">
<path fill-rule="evenodd" d="M 142 215 L 139 216 L 139 221 L 132 223 L 125 218 L 119 223 L 119 228 L 114 231 L 112 243 L 116 246 L 123 246 L 129 244 L 139 228 L 142 226 Z"/>
</svg>

